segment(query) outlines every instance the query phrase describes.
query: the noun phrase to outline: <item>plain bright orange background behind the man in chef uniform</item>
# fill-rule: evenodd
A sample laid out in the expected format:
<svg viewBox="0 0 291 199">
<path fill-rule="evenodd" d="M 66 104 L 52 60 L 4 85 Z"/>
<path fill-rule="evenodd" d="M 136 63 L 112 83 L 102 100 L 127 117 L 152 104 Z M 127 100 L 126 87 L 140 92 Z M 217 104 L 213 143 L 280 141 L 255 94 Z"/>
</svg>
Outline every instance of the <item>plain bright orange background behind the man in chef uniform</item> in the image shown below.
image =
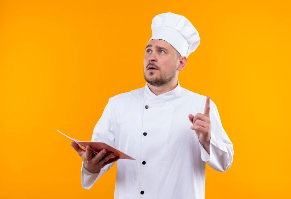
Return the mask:
<svg viewBox="0 0 291 199">
<path fill-rule="evenodd" d="M 113 198 L 116 164 L 81 187 L 81 157 L 108 98 L 145 86 L 155 15 L 201 42 L 180 85 L 211 96 L 233 165 L 206 165 L 205 198 L 290 198 L 288 1 L 0 1 L 1 198 Z"/>
</svg>

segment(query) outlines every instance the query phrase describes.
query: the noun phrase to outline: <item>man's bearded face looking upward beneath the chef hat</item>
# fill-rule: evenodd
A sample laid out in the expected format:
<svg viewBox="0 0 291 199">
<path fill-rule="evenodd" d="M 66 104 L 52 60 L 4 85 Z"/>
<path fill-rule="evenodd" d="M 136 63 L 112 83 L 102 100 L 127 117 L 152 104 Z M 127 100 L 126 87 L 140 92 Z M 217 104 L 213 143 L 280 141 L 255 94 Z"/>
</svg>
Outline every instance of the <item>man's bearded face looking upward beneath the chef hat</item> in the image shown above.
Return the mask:
<svg viewBox="0 0 291 199">
<path fill-rule="evenodd" d="M 178 75 L 178 64 L 178 52 L 171 44 L 160 39 L 148 42 L 143 58 L 143 75 L 149 84 L 162 86 L 171 81 Z"/>
</svg>

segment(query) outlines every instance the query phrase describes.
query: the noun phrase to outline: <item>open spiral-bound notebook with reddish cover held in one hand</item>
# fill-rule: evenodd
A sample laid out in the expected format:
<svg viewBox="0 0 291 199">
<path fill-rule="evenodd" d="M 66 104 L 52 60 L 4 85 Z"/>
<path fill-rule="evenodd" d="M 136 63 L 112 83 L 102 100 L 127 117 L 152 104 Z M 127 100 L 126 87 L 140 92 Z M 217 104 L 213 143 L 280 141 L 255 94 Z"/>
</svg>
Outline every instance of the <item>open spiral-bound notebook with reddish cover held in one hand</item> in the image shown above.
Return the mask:
<svg viewBox="0 0 291 199">
<path fill-rule="evenodd" d="M 73 140 L 74 142 L 76 142 L 81 149 L 86 150 L 86 146 L 90 145 L 91 146 L 91 151 L 93 154 L 97 154 L 99 153 L 102 149 L 106 149 L 107 151 L 113 152 L 113 156 L 111 158 L 114 158 L 116 156 L 119 156 L 119 159 L 128 159 L 128 160 L 136 160 L 132 157 L 130 157 L 129 155 L 125 154 L 122 151 L 119 151 L 115 148 L 113 148 L 112 146 L 106 144 L 105 142 L 84 142 L 84 141 L 79 141 L 77 139 L 73 139 L 71 137 L 69 137 L 68 135 L 65 135 L 64 133 L 62 133 L 61 131 L 57 130 L 59 133 L 63 134 L 64 136 L 66 136 L 67 138 Z M 106 155 L 106 154 L 105 154 Z"/>
</svg>

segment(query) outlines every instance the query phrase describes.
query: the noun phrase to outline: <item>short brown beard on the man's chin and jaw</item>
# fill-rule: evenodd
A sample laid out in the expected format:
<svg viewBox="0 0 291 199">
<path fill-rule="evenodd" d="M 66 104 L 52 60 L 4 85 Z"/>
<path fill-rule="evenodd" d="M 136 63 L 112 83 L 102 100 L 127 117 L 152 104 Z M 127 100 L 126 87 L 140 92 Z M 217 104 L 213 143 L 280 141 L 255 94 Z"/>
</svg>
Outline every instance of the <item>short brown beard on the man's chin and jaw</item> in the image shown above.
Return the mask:
<svg viewBox="0 0 291 199">
<path fill-rule="evenodd" d="M 145 78 L 145 81 L 148 82 L 152 86 L 162 86 L 170 82 L 176 75 L 177 69 L 173 67 L 173 69 L 168 74 L 162 74 L 162 72 L 156 77 L 147 77 L 145 75 L 146 71 L 143 72 L 143 77 Z M 153 76 L 155 72 L 149 71 L 148 76 Z"/>
</svg>

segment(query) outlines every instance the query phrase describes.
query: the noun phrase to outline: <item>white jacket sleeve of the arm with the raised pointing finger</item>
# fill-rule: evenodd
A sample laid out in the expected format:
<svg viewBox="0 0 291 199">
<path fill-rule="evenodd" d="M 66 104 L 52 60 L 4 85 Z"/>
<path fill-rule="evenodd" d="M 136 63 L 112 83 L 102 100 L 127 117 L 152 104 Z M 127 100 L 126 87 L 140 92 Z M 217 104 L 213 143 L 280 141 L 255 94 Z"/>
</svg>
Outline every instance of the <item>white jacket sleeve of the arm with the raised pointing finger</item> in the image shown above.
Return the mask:
<svg viewBox="0 0 291 199">
<path fill-rule="evenodd" d="M 233 163 L 233 144 L 222 127 L 216 105 L 210 100 L 210 154 L 199 142 L 201 159 L 214 170 L 225 172 Z"/>
</svg>

